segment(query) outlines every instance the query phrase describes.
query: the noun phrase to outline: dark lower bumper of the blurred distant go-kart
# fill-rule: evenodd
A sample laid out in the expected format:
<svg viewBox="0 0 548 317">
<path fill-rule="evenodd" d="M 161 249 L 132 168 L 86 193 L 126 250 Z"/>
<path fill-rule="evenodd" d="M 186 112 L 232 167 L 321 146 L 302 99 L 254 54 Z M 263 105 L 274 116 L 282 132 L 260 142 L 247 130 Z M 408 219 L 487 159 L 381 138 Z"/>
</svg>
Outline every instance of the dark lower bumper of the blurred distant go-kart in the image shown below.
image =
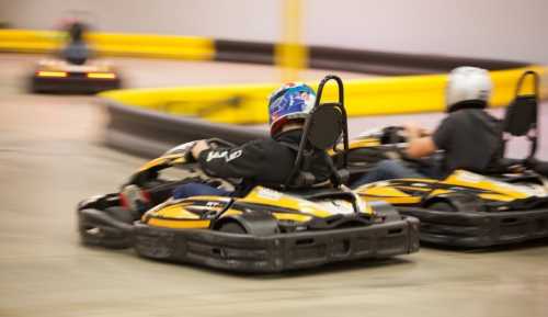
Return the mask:
<svg viewBox="0 0 548 317">
<path fill-rule="evenodd" d="M 42 78 L 33 77 L 31 90 L 44 93 L 83 93 L 91 94 L 104 90 L 119 89 L 122 81 L 116 79 L 89 79 L 84 77 Z"/>
</svg>

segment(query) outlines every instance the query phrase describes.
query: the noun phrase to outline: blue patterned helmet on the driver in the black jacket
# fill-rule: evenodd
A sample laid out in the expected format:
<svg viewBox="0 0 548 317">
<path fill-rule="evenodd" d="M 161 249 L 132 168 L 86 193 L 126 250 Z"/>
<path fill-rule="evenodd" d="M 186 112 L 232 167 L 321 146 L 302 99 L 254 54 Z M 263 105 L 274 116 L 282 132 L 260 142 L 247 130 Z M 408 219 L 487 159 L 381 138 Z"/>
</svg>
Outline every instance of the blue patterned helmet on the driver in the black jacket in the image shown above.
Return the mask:
<svg viewBox="0 0 548 317">
<path fill-rule="evenodd" d="M 289 82 L 273 92 L 269 99 L 271 135 L 279 132 L 292 120 L 306 118 L 316 102 L 316 92 L 308 84 Z"/>
</svg>

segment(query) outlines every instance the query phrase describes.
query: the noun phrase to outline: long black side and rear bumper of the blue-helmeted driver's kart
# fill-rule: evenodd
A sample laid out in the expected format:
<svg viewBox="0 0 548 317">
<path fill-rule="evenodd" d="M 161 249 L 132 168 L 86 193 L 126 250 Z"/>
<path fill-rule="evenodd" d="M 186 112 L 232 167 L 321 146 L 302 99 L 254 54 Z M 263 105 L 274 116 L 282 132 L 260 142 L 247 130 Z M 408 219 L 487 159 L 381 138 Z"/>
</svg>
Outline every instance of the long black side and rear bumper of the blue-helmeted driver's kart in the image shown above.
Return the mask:
<svg viewBox="0 0 548 317">
<path fill-rule="evenodd" d="M 419 220 L 267 237 L 136 224 L 134 248 L 158 260 L 239 272 L 282 272 L 330 262 L 387 258 L 419 250 Z"/>
</svg>

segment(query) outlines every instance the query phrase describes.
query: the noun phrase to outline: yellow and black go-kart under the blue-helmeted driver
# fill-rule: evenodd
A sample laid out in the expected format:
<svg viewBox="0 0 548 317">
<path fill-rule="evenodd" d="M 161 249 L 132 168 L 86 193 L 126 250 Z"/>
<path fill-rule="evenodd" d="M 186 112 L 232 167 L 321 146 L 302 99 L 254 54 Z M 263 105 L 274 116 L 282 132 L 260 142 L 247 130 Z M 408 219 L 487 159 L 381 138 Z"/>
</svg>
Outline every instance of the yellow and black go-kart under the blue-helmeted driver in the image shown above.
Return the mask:
<svg viewBox="0 0 548 317">
<path fill-rule="evenodd" d="M 340 100 L 320 103 L 329 80 L 336 81 Z M 295 149 L 295 177 L 285 186 L 255 186 L 233 196 L 169 197 L 185 181 L 230 185 L 201 173 L 189 155 L 192 143 L 182 145 L 145 165 L 126 185 L 138 186 L 152 201 L 140 219 L 133 222 L 117 193 L 80 203 L 82 241 L 134 247 L 147 258 L 244 272 L 279 272 L 418 251 L 419 220 L 400 216 L 387 203 L 366 203 L 345 188 L 344 159 L 331 163 L 328 185 L 316 184 L 304 171 L 312 152 L 327 152 L 341 137 L 347 148 L 342 81 L 329 76 L 320 83 Z M 186 172 L 186 177 L 171 181 L 164 177 L 169 170 Z"/>
</svg>

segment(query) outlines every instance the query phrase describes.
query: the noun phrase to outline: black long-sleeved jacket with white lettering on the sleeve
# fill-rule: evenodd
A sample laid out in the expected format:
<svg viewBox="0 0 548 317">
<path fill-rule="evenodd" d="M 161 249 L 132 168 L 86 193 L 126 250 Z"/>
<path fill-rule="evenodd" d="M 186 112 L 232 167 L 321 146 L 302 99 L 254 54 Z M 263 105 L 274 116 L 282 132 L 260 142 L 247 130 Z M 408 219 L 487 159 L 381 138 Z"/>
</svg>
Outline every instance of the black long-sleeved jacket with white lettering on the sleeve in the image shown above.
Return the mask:
<svg viewBox="0 0 548 317">
<path fill-rule="evenodd" d="M 250 185 L 284 184 L 295 163 L 302 131 L 288 131 L 274 139 L 258 139 L 233 148 L 216 148 L 199 154 L 198 162 L 204 172 L 217 178 L 242 179 Z M 309 171 L 317 179 L 326 180 L 329 168 L 320 155 L 312 159 Z"/>
</svg>

